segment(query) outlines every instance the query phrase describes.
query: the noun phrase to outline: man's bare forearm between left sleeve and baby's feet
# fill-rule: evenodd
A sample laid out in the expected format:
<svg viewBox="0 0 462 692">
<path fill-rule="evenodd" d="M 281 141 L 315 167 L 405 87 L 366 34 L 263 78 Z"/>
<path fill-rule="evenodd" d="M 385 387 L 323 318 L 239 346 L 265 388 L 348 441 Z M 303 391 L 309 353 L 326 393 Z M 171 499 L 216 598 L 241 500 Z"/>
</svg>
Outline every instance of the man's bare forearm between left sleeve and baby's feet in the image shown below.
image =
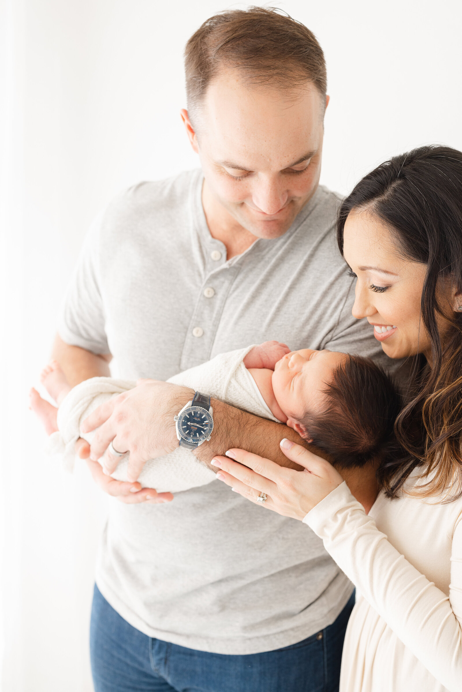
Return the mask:
<svg viewBox="0 0 462 692">
<path fill-rule="evenodd" d="M 90 377 L 109 377 L 110 354 L 96 355 L 78 346 L 64 343 L 56 335 L 52 356 L 57 361 L 72 387 Z"/>
</svg>

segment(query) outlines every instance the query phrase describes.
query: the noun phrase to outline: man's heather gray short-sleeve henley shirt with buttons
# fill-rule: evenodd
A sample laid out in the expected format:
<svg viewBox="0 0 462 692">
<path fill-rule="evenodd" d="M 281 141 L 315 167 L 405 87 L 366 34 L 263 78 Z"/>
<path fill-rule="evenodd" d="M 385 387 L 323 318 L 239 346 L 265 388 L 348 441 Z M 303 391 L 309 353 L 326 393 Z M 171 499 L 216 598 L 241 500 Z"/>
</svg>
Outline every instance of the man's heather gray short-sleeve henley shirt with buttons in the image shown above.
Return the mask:
<svg viewBox="0 0 462 692">
<path fill-rule="evenodd" d="M 168 379 L 269 339 L 387 364 L 372 328 L 351 316 L 337 195 L 319 188 L 283 237 L 259 239 L 228 262 L 208 232 L 201 189 L 199 171 L 141 183 L 96 220 L 64 302 L 66 343 L 111 352 L 126 379 Z M 231 654 L 312 635 L 352 590 L 307 526 L 219 481 L 170 504 L 114 501 L 97 583 L 146 635 Z"/>
</svg>

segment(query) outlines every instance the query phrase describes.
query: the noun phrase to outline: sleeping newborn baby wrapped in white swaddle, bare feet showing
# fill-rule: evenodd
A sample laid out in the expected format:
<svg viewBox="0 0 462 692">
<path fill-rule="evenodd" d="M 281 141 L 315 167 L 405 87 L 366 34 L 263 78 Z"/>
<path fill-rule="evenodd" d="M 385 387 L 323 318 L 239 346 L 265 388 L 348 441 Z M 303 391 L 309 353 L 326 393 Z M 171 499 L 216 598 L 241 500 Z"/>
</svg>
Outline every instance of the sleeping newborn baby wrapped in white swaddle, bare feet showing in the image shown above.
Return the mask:
<svg viewBox="0 0 462 692">
<path fill-rule="evenodd" d="M 393 381 L 369 359 L 327 350 L 290 352 L 277 341 L 220 354 L 168 381 L 284 423 L 343 468 L 362 466 L 383 453 L 393 439 L 400 410 Z M 51 451 L 62 454 L 68 468 L 73 465 L 81 421 L 110 397 L 135 386 L 131 381 L 96 377 L 71 388 L 57 363 L 42 372 L 42 383 L 59 406 L 57 417 L 56 409 L 35 390 L 31 408 L 47 432 L 55 431 Z M 81 436 L 91 441 L 92 435 Z M 281 430 L 281 439 L 283 435 Z M 126 480 L 126 468 L 123 457 L 112 477 Z M 179 447 L 147 462 L 139 482 L 158 492 L 179 492 L 214 478 L 214 471 Z"/>
</svg>

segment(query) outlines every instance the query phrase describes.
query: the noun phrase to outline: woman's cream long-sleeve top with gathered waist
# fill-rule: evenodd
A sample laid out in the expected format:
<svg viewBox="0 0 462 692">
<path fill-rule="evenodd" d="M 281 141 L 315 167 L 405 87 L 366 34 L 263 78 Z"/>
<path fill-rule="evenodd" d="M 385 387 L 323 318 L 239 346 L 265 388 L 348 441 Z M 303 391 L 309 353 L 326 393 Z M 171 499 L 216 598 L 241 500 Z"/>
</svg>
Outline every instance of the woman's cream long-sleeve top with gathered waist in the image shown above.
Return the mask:
<svg viewBox="0 0 462 692">
<path fill-rule="evenodd" d="M 462 500 L 380 493 L 367 515 L 342 483 L 303 522 L 357 587 L 340 691 L 462 692 Z"/>
</svg>

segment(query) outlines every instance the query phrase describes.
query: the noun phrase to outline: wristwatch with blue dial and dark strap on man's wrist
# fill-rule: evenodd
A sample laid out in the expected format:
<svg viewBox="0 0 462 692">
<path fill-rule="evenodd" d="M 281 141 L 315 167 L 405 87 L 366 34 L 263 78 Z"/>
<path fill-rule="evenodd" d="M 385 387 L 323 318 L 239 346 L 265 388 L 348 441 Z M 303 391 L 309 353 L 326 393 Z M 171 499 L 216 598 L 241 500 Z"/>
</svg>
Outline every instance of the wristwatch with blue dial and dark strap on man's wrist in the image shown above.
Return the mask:
<svg viewBox="0 0 462 692">
<path fill-rule="evenodd" d="M 188 401 L 174 418 L 179 446 L 197 449 L 199 444 L 210 439 L 213 430 L 213 408 L 207 394 L 196 392 L 193 401 Z"/>
</svg>

